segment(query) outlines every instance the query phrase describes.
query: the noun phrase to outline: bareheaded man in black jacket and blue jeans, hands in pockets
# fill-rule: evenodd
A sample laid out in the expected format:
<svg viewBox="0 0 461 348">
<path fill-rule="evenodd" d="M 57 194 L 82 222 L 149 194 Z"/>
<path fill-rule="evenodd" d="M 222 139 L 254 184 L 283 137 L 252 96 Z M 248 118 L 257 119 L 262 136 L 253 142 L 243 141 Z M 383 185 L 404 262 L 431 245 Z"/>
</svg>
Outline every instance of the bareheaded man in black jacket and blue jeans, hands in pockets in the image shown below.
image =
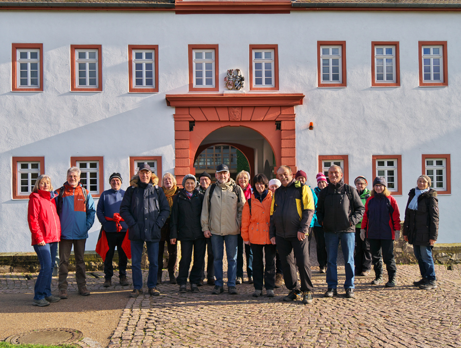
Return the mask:
<svg viewBox="0 0 461 348">
<path fill-rule="evenodd" d="M 325 297 L 337 294 L 338 288 L 338 246 L 344 255 L 346 271 L 346 297 L 354 297 L 354 244 L 355 225 L 362 219 L 365 207 L 357 190 L 343 182 L 340 166 L 328 168 L 330 183 L 322 189 L 317 202 L 317 221 L 323 226 L 327 248 L 326 281 L 328 290 Z"/>
</svg>

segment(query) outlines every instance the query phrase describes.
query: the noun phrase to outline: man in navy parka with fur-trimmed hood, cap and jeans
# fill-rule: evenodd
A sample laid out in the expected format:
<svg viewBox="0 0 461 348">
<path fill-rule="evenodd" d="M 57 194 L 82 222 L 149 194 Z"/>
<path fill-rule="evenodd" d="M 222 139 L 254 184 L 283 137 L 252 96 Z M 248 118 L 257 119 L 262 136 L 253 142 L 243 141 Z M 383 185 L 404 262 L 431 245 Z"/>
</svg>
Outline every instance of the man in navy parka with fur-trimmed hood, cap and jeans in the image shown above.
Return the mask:
<svg viewBox="0 0 461 348">
<path fill-rule="evenodd" d="M 133 292 L 130 297 L 142 294 L 141 256 L 144 242 L 149 259 L 149 294 L 160 295 L 157 290 L 158 242 L 161 228 L 170 216 L 170 205 L 157 183 L 158 178 L 152 173 L 149 164 L 142 164 L 120 205 L 120 216 L 128 225 L 128 237 L 131 241 Z"/>
</svg>

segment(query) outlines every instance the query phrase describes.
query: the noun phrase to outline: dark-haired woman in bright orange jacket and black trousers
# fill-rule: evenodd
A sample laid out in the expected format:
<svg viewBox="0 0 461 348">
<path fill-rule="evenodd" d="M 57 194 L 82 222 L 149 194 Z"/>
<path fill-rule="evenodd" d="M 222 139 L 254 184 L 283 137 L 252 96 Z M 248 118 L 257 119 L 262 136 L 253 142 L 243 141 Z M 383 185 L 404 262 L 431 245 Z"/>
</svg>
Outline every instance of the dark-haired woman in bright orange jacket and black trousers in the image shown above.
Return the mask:
<svg viewBox="0 0 461 348">
<path fill-rule="evenodd" d="M 253 251 L 253 296 L 262 296 L 263 283 L 268 297 L 274 297 L 276 246 L 270 243 L 269 219 L 272 192 L 268 190 L 269 181 L 264 174 L 253 178 L 253 194 L 243 206 L 242 238 L 251 245 Z M 265 254 L 265 268 L 263 260 Z"/>
</svg>

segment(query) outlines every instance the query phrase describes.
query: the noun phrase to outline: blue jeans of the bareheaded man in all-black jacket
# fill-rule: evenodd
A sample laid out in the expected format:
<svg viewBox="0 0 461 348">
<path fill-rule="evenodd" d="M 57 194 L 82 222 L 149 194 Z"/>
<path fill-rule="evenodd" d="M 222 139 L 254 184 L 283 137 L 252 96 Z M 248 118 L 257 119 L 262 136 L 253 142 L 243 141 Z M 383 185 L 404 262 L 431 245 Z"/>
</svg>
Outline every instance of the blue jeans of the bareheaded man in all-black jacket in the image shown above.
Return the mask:
<svg viewBox="0 0 461 348">
<path fill-rule="evenodd" d="M 327 248 L 327 274 L 328 288 L 338 288 L 338 246 L 341 241 L 341 250 L 344 255 L 344 268 L 346 281 L 344 289 L 354 288 L 354 245 L 355 233 L 353 232 L 325 232 Z"/>
</svg>

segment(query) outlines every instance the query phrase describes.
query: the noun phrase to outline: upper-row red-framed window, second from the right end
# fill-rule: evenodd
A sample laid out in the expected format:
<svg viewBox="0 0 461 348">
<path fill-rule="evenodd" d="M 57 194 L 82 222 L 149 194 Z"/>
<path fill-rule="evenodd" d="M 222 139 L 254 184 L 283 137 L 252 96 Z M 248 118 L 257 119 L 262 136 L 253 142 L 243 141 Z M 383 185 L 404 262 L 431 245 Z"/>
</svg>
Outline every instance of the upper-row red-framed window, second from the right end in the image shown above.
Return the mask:
<svg viewBox="0 0 461 348">
<path fill-rule="evenodd" d="M 371 86 L 400 86 L 399 42 L 371 42 Z"/>
</svg>

